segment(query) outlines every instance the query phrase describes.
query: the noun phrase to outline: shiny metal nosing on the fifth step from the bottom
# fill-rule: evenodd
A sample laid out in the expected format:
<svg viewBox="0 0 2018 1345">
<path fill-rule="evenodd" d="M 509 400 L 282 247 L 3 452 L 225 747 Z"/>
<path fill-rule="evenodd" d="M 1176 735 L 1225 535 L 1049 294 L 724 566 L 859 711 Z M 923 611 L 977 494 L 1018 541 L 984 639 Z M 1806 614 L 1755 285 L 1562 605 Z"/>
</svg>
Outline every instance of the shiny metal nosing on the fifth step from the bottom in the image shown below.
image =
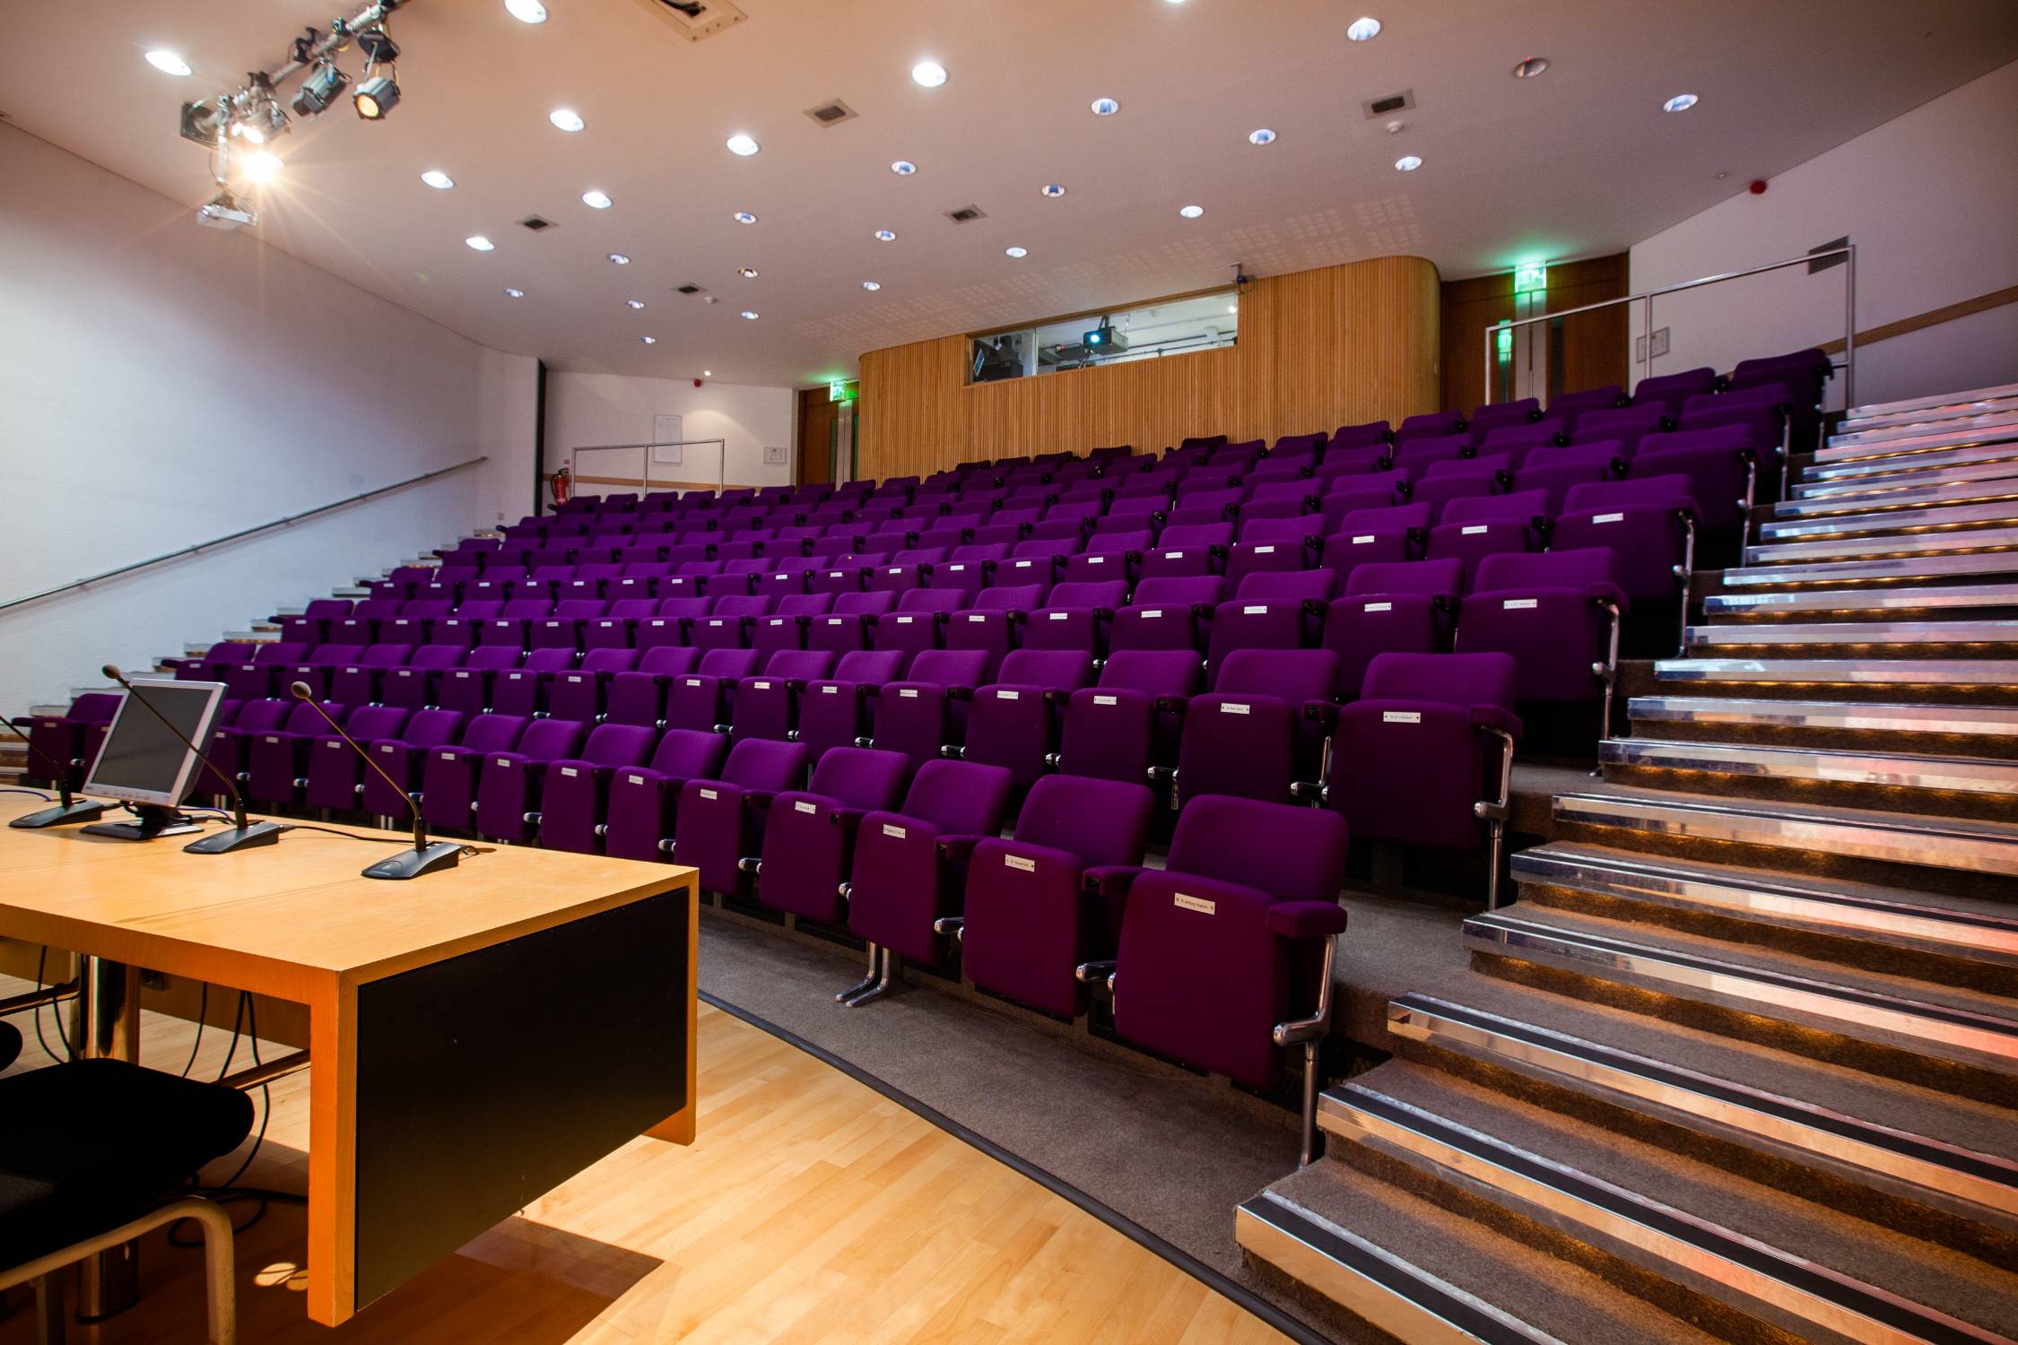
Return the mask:
<svg viewBox="0 0 2018 1345">
<path fill-rule="evenodd" d="M 1986 915 L 1913 901 L 1885 901 L 1844 891 L 1810 891 L 1794 885 L 1731 881 L 1721 875 L 1691 873 L 1683 865 L 1594 859 L 1552 853 L 1538 845 L 1513 855 L 1516 883 L 1548 883 L 1570 891 L 1629 901 L 1657 901 L 1675 907 L 1713 907 L 1737 915 L 1764 915 L 1887 934 L 1957 952 L 1990 952 L 2018 958 L 2018 915 Z"/>
</svg>

